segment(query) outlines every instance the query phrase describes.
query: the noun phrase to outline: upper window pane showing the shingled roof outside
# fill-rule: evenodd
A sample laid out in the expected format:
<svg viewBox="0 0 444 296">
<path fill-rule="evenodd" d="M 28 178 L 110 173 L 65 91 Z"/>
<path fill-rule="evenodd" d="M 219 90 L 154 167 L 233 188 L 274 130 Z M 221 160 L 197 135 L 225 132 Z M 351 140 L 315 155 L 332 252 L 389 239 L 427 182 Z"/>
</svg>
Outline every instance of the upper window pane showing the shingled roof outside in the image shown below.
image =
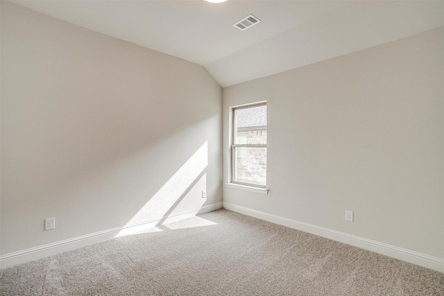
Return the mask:
<svg viewBox="0 0 444 296">
<path fill-rule="evenodd" d="M 234 110 L 234 144 L 266 144 L 266 105 Z"/>
</svg>

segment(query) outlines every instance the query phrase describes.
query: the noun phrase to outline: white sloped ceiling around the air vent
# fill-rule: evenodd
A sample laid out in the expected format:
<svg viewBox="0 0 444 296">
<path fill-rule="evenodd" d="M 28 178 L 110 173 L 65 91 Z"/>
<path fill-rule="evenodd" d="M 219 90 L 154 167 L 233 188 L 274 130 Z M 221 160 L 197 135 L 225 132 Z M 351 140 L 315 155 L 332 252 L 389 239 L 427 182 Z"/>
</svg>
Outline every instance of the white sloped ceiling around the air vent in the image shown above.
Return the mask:
<svg viewBox="0 0 444 296">
<path fill-rule="evenodd" d="M 222 87 L 444 26 L 444 1 L 12 0 L 203 65 Z M 232 24 L 255 15 L 260 24 Z"/>
</svg>

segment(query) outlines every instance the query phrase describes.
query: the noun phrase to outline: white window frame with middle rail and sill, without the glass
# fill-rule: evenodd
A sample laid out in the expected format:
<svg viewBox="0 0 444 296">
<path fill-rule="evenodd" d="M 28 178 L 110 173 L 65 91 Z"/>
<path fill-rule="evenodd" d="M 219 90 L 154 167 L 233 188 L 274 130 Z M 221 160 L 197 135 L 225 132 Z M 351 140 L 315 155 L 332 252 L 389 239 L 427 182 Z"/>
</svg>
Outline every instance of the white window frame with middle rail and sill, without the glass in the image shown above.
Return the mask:
<svg viewBox="0 0 444 296">
<path fill-rule="evenodd" d="M 266 148 L 266 144 L 234 144 L 234 136 L 235 136 L 235 128 L 236 128 L 236 121 L 234 116 L 234 110 L 244 109 L 244 108 L 250 108 L 250 107 L 257 107 L 261 105 L 266 105 L 266 101 L 256 102 L 256 103 L 250 103 L 245 105 L 237 105 L 230 107 L 230 175 L 229 175 L 229 182 L 226 183 L 227 186 L 237 189 L 244 189 L 247 191 L 253 191 L 257 193 L 268 193 L 268 189 L 266 189 L 266 185 L 257 185 L 257 184 L 251 184 L 251 183 L 245 183 L 245 182 L 238 182 L 234 181 L 234 168 L 235 166 L 235 159 L 234 159 L 234 149 L 237 147 L 255 147 L 255 148 Z M 267 131 L 268 131 L 268 123 L 267 123 Z M 267 133 L 267 142 L 268 142 L 268 133 Z M 267 153 L 268 155 L 268 153 Z M 268 164 L 268 162 L 267 162 Z"/>
</svg>

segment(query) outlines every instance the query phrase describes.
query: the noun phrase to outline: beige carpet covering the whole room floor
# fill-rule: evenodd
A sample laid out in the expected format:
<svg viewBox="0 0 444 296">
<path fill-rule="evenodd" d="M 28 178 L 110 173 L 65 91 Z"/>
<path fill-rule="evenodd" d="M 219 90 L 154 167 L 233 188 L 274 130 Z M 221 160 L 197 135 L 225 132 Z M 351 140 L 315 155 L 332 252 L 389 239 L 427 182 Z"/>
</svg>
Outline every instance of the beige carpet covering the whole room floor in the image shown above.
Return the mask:
<svg viewBox="0 0 444 296">
<path fill-rule="evenodd" d="M 444 274 L 213 211 L 1 271 L 1 295 L 444 295 Z"/>
</svg>

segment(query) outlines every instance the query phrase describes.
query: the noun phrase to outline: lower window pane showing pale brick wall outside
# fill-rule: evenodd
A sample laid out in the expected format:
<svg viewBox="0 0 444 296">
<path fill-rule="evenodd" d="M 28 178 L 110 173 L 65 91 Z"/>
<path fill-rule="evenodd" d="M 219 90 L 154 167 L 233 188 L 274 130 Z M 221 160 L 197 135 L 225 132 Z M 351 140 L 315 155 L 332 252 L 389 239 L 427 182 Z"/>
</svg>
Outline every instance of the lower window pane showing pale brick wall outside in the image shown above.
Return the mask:
<svg viewBox="0 0 444 296">
<path fill-rule="evenodd" d="M 233 181 L 266 186 L 266 148 L 236 147 Z"/>
</svg>

